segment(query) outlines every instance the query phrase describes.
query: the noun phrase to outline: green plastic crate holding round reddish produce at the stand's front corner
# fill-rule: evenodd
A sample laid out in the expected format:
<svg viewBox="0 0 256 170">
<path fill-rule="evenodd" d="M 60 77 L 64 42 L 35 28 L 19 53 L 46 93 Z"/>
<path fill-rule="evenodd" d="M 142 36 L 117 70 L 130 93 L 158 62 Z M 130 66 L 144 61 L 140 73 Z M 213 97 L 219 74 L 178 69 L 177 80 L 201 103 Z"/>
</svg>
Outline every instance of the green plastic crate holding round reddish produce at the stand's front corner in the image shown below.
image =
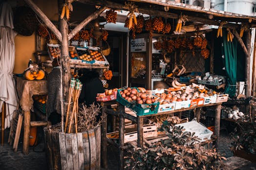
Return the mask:
<svg viewBox="0 0 256 170">
<path fill-rule="evenodd" d="M 133 104 L 122 98 L 120 91 L 123 89 L 119 89 L 117 92 L 116 100 L 120 104 L 128 107 L 129 109 L 133 110 L 136 112 L 137 116 L 144 116 L 144 115 L 151 115 L 151 114 L 156 114 L 159 108 L 159 102 L 157 103 L 152 103 L 152 104 Z"/>
</svg>

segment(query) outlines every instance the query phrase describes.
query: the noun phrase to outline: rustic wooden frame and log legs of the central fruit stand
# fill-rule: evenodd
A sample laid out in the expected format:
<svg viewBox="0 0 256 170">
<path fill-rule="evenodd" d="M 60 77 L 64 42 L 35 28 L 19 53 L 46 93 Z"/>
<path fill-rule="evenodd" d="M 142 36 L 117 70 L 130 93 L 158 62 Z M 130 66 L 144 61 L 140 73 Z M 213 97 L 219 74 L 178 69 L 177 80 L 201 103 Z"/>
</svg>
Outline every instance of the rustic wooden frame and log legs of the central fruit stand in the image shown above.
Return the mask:
<svg viewBox="0 0 256 170">
<path fill-rule="evenodd" d="M 108 109 L 107 106 L 111 104 L 117 104 L 118 105 L 118 111 L 113 111 L 112 109 Z M 124 135 L 125 135 L 125 119 L 129 119 L 134 123 L 137 123 L 137 133 L 138 133 L 138 140 L 137 140 L 137 146 L 140 148 L 143 148 L 143 119 L 146 117 L 152 117 L 152 116 L 158 116 L 158 115 L 167 115 L 171 114 L 174 115 L 174 113 L 186 111 L 186 110 L 192 110 L 196 109 L 195 111 L 195 118 L 199 122 L 200 120 L 200 109 L 201 107 L 208 107 L 208 106 L 215 106 L 215 128 L 214 133 L 216 136 L 216 148 L 218 147 L 218 140 L 219 140 L 219 129 L 220 129 L 220 112 L 221 112 L 221 102 L 220 103 L 213 103 L 213 104 L 206 104 L 206 105 L 200 105 L 200 106 L 194 106 L 190 108 L 184 108 L 184 109 L 178 109 L 168 112 L 162 112 L 152 115 L 145 115 L 145 116 L 132 116 L 127 113 L 125 113 L 125 106 L 122 104 L 119 104 L 116 101 L 110 101 L 110 102 L 101 102 L 101 105 L 103 107 L 102 114 L 103 116 L 106 116 L 107 114 L 118 116 L 119 117 L 119 170 L 124 169 Z M 102 162 L 103 162 L 103 168 L 107 168 L 107 121 L 105 121 L 102 124 Z"/>
</svg>

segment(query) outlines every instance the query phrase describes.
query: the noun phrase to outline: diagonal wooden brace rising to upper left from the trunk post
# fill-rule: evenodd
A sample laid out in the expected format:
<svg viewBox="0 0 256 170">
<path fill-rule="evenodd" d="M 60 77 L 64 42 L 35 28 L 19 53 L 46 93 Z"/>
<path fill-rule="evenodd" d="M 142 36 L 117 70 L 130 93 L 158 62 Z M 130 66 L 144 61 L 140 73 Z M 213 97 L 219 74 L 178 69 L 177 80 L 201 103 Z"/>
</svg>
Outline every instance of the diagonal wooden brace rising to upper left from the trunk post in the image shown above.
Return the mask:
<svg viewBox="0 0 256 170">
<path fill-rule="evenodd" d="M 53 34 L 56 35 L 57 39 L 59 41 L 62 41 L 62 34 L 55 27 L 55 25 L 50 21 L 50 19 L 45 14 L 43 14 L 41 9 L 39 9 L 38 6 L 34 2 L 32 2 L 32 0 L 24 0 L 24 1 L 43 20 L 44 24 L 53 32 Z"/>
</svg>

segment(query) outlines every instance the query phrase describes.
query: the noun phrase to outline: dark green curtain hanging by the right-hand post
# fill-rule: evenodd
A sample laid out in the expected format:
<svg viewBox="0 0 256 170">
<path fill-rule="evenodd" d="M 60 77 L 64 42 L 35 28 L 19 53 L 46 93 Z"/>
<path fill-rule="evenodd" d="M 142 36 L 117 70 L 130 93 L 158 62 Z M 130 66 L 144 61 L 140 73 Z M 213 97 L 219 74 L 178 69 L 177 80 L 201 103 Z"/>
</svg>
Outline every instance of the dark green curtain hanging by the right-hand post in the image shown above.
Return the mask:
<svg viewBox="0 0 256 170">
<path fill-rule="evenodd" d="M 227 40 L 227 32 L 223 30 L 223 52 L 226 68 L 226 88 L 225 93 L 230 97 L 235 96 L 236 90 L 236 60 L 237 60 L 237 40 L 233 39 L 233 42 Z"/>
</svg>

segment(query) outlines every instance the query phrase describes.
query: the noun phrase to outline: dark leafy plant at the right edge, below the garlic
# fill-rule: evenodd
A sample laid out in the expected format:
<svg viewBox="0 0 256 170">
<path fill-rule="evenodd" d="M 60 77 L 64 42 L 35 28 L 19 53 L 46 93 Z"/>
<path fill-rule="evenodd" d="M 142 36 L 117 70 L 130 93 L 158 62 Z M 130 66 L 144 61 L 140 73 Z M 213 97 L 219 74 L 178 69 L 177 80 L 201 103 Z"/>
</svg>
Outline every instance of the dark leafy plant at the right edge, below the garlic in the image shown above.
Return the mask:
<svg viewBox="0 0 256 170">
<path fill-rule="evenodd" d="M 232 133 L 234 141 L 231 143 L 231 151 L 244 149 L 247 152 L 256 152 L 256 118 L 245 115 L 236 120 L 235 132 Z"/>
</svg>

